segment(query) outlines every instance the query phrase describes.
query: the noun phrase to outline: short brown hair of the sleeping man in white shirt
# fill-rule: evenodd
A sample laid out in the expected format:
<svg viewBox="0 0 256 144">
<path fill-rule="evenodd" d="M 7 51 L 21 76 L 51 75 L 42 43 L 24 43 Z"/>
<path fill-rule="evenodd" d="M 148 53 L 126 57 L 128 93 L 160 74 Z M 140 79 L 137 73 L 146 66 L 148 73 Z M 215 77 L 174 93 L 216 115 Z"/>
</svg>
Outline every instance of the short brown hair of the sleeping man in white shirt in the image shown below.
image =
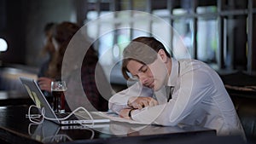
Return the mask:
<svg viewBox="0 0 256 144">
<path fill-rule="evenodd" d="M 136 60 L 143 65 L 148 65 L 157 59 L 157 53 L 163 49 L 166 55 L 171 58 L 165 46 L 154 37 L 137 37 L 128 44 L 123 52 L 122 73 L 125 79 L 130 78 L 127 64 L 130 60 Z"/>
</svg>

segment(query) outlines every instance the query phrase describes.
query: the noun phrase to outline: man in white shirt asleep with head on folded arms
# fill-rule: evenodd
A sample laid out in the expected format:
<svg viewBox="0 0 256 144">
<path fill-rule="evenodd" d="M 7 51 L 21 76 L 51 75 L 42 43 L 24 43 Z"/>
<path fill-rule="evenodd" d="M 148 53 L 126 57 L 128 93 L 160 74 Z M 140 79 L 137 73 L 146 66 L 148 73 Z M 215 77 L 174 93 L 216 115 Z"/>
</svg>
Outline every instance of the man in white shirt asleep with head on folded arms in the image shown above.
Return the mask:
<svg viewBox="0 0 256 144">
<path fill-rule="evenodd" d="M 137 37 L 123 55 L 123 75 L 137 78 L 137 83 L 110 98 L 109 108 L 120 117 L 166 126 L 197 125 L 218 135 L 244 136 L 230 95 L 207 64 L 171 58 L 154 37 Z"/>
</svg>

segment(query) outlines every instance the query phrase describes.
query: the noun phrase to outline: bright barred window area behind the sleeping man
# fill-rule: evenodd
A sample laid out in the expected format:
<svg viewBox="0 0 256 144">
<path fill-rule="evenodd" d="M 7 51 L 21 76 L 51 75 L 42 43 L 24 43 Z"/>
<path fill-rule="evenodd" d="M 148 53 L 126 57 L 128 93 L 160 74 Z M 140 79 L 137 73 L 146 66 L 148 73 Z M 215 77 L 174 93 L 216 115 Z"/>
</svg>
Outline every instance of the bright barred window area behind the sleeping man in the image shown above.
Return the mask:
<svg viewBox="0 0 256 144">
<path fill-rule="evenodd" d="M 122 51 L 131 39 L 160 35 L 160 41 L 166 48 L 172 49 L 173 56 L 177 58 L 191 57 L 202 60 L 217 71 L 241 68 L 252 72 L 253 56 L 250 53 L 253 51 L 253 17 L 256 12 L 252 6 L 253 0 L 239 0 L 236 3 L 230 0 L 86 2 L 86 8 L 81 9 L 86 9 L 85 21 L 96 20 L 104 14 L 112 14 L 108 15 L 108 20 L 88 27 L 89 36 L 96 39 L 96 48 L 106 71 L 112 71 L 113 66 L 119 67 Z M 142 13 L 112 13 L 122 10 L 138 10 Z M 152 20 L 148 14 L 164 20 L 169 26 Z M 173 37 L 170 26 L 182 39 L 186 53 L 183 49 L 174 49 L 177 37 Z M 240 33 L 243 38 L 239 37 Z"/>
</svg>

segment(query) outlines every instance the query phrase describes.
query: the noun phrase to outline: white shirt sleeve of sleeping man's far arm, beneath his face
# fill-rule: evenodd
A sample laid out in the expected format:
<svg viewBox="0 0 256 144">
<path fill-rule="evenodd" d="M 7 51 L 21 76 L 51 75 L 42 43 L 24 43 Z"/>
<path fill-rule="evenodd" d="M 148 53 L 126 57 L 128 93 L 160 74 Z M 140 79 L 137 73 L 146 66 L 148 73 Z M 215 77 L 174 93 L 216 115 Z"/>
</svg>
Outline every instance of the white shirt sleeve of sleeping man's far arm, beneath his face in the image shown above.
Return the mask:
<svg viewBox="0 0 256 144">
<path fill-rule="evenodd" d="M 143 87 L 138 82 L 131 85 L 128 89 L 122 90 L 113 95 L 108 101 L 108 107 L 113 112 L 119 113 L 120 110 L 128 108 L 127 102 L 132 96 L 153 96 L 153 90 Z"/>
</svg>

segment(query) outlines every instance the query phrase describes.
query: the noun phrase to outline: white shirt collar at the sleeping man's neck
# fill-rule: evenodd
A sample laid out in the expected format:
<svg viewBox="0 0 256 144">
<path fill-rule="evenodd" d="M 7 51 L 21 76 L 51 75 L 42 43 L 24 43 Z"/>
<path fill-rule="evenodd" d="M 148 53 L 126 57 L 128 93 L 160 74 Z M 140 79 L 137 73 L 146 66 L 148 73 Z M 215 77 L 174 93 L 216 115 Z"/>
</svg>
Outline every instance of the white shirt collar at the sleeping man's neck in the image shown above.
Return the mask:
<svg viewBox="0 0 256 144">
<path fill-rule="evenodd" d="M 172 70 L 171 70 L 171 74 L 170 74 L 169 79 L 168 79 L 168 84 L 167 84 L 168 86 L 175 86 L 176 85 L 179 68 L 180 67 L 178 66 L 177 60 L 172 58 Z"/>
</svg>

